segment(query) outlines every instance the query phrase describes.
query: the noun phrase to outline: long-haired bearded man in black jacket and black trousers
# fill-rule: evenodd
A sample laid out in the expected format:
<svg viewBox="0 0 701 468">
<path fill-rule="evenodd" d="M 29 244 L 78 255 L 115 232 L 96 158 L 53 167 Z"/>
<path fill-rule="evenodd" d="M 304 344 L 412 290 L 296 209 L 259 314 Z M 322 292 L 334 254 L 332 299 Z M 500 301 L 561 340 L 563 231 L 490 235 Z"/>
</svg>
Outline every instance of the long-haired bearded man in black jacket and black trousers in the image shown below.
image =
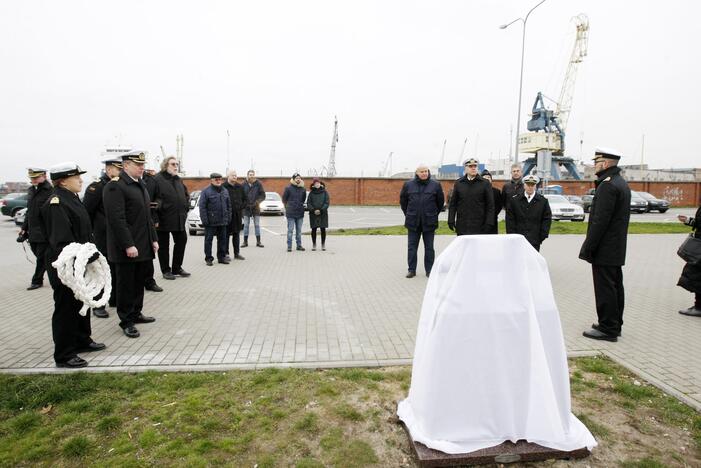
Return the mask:
<svg viewBox="0 0 701 468">
<path fill-rule="evenodd" d="M 153 201 L 154 225 L 158 233 L 158 262 L 163 278 L 174 280 L 176 276 L 188 277 L 183 270 L 187 233 L 185 222 L 190 209 L 189 195 L 185 184 L 178 176 L 180 165 L 175 156 L 161 162 L 161 172 L 153 178 L 155 188 Z M 170 236 L 173 236 L 173 265 L 170 265 Z"/>
</svg>

